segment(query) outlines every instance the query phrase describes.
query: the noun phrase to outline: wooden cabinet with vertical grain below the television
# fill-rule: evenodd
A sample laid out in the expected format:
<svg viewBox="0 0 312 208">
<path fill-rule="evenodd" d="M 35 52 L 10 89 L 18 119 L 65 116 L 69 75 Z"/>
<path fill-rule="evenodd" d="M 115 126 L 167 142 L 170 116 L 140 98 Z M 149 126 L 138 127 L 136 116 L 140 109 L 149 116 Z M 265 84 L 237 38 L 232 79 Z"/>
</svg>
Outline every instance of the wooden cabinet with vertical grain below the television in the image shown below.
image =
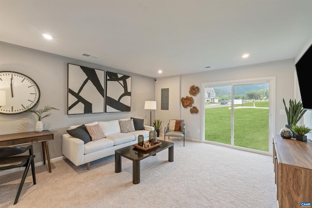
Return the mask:
<svg viewBox="0 0 312 208">
<path fill-rule="evenodd" d="M 312 142 L 273 134 L 273 164 L 278 207 L 312 203 Z"/>
</svg>

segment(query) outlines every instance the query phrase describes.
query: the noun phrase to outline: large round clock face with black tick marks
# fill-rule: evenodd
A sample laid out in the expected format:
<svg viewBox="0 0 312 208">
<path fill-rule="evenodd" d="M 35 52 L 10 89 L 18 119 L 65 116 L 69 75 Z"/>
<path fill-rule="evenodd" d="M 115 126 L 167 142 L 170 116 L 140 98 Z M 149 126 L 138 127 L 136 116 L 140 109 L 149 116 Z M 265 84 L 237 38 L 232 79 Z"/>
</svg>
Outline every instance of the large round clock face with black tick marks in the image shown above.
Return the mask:
<svg viewBox="0 0 312 208">
<path fill-rule="evenodd" d="M 0 71 L 0 90 L 6 92 L 6 105 L 0 106 L 0 113 L 25 112 L 33 108 L 40 98 L 36 82 L 18 72 Z"/>
</svg>

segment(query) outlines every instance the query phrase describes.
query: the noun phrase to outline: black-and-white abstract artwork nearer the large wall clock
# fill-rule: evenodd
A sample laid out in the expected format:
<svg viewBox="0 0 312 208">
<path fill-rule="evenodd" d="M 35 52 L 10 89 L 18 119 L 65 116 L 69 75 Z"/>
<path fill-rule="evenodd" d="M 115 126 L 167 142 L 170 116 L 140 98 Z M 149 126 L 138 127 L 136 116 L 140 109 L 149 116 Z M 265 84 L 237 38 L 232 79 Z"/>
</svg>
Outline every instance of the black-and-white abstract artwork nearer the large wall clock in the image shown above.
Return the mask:
<svg viewBox="0 0 312 208">
<path fill-rule="evenodd" d="M 104 113 L 105 72 L 68 64 L 67 114 Z"/>
</svg>

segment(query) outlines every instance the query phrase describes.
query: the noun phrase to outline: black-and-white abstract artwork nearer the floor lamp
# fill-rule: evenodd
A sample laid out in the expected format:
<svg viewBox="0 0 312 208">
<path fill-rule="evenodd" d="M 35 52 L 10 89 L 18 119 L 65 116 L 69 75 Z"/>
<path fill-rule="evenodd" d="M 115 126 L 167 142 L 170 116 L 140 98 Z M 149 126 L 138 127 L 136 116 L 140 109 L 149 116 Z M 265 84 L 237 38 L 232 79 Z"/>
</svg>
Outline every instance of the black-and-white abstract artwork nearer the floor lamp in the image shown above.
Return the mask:
<svg viewBox="0 0 312 208">
<path fill-rule="evenodd" d="M 106 73 L 106 112 L 130 112 L 131 76 Z"/>
</svg>

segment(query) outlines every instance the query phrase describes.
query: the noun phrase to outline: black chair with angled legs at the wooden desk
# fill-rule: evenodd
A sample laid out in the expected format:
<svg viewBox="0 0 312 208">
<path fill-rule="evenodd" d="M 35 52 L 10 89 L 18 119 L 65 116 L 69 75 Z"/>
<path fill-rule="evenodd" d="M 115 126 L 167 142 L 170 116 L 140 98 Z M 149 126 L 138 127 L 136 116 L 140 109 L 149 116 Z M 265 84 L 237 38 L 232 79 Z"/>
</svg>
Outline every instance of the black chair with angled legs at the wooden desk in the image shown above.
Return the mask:
<svg viewBox="0 0 312 208">
<path fill-rule="evenodd" d="M 29 155 L 17 155 L 29 150 Z M 0 147 L 0 170 L 8 170 L 13 168 L 25 167 L 23 177 L 20 182 L 20 187 L 16 195 L 14 204 L 18 203 L 20 191 L 24 185 L 27 172 L 31 166 L 33 174 L 33 182 L 36 184 L 35 163 L 34 163 L 33 145 L 28 147 Z"/>
</svg>

